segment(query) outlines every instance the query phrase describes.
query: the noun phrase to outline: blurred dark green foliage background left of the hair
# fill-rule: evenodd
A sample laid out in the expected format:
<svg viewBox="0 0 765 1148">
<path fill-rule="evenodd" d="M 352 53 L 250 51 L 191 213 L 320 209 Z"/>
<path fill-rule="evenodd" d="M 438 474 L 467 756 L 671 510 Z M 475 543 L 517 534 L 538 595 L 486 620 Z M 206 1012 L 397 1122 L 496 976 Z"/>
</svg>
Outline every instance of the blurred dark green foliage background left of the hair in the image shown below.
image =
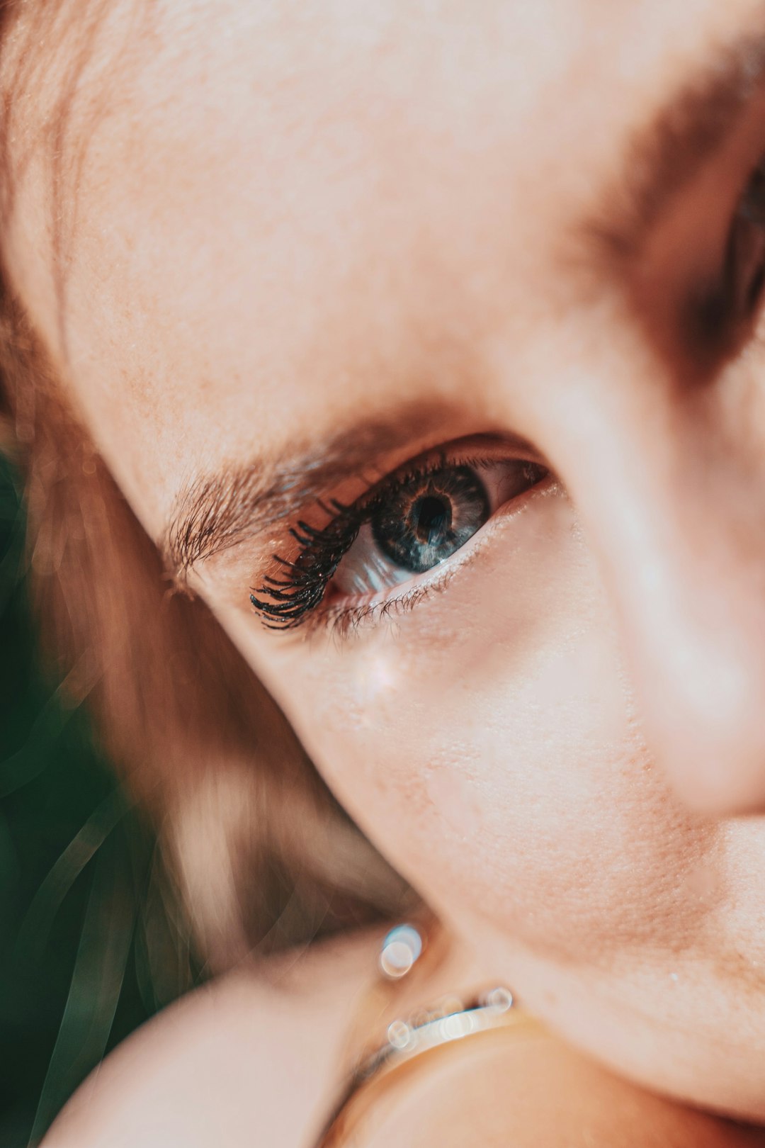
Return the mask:
<svg viewBox="0 0 765 1148">
<path fill-rule="evenodd" d="M 106 1052 L 194 979 L 149 828 L 44 672 L 0 457 L 0 1148 L 37 1143 Z"/>
</svg>

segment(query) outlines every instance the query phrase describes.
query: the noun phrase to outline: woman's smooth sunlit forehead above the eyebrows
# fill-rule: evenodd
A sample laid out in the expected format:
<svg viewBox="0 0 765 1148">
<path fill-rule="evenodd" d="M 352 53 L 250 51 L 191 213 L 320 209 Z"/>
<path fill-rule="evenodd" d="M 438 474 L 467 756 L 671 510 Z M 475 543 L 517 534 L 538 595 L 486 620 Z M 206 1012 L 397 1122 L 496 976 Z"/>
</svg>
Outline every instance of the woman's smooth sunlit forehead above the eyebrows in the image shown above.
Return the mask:
<svg viewBox="0 0 765 1148">
<path fill-rule="evenodd" d="M 561 235 L 631 133 L 760 17 L 752 0 L 89 7 L 62 6 L 63 48 L 44 37 L 46 80 L 26 85 L 9 262 L 153 529 L 189 466 L 459 389 L 466 348 L 498 325 L 522 340 L 562 305 Z"/>
</svg>

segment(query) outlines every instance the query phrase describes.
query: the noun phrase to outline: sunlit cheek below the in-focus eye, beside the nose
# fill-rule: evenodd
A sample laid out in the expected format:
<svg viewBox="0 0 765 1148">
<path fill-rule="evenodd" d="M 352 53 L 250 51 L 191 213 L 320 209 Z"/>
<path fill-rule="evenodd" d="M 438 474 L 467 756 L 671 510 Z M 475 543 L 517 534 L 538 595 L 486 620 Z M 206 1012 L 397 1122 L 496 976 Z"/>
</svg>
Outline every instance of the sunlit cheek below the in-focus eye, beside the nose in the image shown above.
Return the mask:
<svg viewBox="0 0 765 1148">
<path fill-rule="evenodd" d="M 693 930 L 684 884 L 715 840 L 645 753 L 561 496 L 412 614 L 257 660 L 349 812 L 453 918 L 587 961 Z"/>
</svg>

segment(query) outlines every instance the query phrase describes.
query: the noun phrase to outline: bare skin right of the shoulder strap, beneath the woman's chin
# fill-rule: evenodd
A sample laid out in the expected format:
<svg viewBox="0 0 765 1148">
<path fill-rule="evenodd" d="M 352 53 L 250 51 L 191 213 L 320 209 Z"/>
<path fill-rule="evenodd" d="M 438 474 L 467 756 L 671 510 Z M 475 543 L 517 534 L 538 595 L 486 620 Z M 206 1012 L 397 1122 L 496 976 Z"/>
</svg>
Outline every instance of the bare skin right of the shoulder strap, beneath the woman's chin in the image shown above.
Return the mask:
<svg viewBox="0 0 765 1148">
<path fill-rule="evenodd" d="M 763 1148 L 744 1128 L 645 1092 L 544 1031 L 442 1062 L 367 1114 L 365 1148 Z M 357 1131 L 356 1128 L 353 1130 Z M 349 1140 L 349 1142 L 351 1142 Z"/>
</svg>

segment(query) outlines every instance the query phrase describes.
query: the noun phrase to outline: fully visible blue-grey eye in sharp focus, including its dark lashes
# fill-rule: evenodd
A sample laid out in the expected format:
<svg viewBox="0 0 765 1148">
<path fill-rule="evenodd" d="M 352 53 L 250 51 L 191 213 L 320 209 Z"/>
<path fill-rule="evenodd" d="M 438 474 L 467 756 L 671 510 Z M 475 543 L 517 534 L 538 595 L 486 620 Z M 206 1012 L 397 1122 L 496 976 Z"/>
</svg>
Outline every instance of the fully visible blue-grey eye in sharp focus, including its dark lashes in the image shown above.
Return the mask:
<svg viewBox="0 0 765 1148">
<path fill-rule="evenodd" d="M 253 588 L 263 623 L 294 629 L 310 618 L 348 629 L 406 608 L 451 572 L 456 556 L 504 507 L 539 486 L 531 457 L 467 452 L 459 444 L 406 464 L 352 505 L 321 503 L 321 527 L 299 521 L 297 552 Z"/>
</svg>

